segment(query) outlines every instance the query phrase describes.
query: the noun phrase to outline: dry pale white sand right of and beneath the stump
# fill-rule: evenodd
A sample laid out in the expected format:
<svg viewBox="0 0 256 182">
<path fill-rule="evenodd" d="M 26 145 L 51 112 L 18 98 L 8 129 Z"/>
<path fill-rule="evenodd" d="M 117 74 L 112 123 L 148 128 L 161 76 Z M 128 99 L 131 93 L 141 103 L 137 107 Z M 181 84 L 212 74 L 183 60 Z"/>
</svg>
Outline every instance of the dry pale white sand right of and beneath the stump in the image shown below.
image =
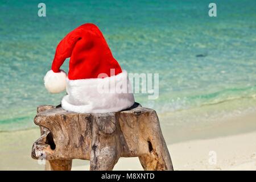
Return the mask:
<svg viewBox="0 0 256 182">
<path fill-rule="evenodd" d="M 256 170 L 256 132 L 171 144 L 175 170 Z M 214 158 L 216 156 L 216 158 Z M 72 170 L 88 170 L 89 165 Z M 121 158 L 114 170 L 142 170 L 138 158 Z"/>
</svg>

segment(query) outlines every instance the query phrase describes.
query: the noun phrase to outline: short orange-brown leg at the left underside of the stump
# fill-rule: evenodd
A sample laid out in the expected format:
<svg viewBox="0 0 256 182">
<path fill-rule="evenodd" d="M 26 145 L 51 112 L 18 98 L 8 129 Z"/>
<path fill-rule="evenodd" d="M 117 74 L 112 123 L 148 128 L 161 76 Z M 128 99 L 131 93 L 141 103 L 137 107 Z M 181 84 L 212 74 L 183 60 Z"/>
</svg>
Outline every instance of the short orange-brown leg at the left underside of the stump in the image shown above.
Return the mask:
<svg viewBox="0 0 256 182">
<path fill-rule="evenodd" d="M 71 171 L 72 160 L 47 160 L 46 171 Z"/>
</svg>

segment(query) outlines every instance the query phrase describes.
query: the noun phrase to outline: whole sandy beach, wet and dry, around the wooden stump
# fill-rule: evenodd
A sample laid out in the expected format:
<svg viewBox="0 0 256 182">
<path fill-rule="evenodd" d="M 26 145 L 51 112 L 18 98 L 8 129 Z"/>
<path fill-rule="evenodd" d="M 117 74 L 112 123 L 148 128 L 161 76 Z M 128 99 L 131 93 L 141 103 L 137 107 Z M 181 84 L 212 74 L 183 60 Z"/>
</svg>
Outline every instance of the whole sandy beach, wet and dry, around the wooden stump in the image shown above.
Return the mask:
<svg viewBox="0 0 256 182">
<path fill-rule="evenodd" d="M 255 121 L 256 113 L 251 113 L 214 127 L 179 134 L 162 126 L 175 170 L 256 170 Z M 0 133 L 0 169 L 43 170 L 44 165 L 30 156 L 32 143 L 39 135 L 39 129 Z M 72 170 L 88 169 L 88 161 L 73 160 Z M 138 158 L 121 158 L 114 170 L 142 167 Z"/>
</svg>

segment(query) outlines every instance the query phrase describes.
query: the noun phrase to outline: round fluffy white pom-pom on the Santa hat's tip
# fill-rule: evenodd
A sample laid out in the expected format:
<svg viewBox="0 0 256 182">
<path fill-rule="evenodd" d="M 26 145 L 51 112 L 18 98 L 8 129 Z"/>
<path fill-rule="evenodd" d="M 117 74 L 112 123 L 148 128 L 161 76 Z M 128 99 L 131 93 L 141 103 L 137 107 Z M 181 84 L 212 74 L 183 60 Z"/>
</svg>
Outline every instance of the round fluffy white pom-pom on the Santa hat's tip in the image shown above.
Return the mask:
<svg viewBox="0 0 256 182">
<path fill-rule="evenodd" d="M 50 70 L 44 76 L 44 86 L 51 93 L 60 93 L 66 89 L 66 78 L 67 73 L 63 70 L 59 73 Z"/>
</svg>

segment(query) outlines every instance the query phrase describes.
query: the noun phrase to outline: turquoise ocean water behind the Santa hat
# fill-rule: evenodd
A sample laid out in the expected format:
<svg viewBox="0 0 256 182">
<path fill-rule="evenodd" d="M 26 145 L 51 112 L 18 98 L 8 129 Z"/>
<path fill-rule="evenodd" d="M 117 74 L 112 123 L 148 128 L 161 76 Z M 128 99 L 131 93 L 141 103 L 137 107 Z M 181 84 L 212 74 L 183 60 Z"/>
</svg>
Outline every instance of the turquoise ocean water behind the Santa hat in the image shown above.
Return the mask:
<svg viewBox="0 0 256 182">
<path fill-rule="evenodd" d="M 34 127 L 36 106 L 60 104 L 65 93 L 47 93 L 43 77 L 60 40 L 88 22 L 127 72 L 159 73 L 159 98 L 135 100 L 167 118 L 163 125 L 256 110 L 255 0 L 214 1 L 215 18 L 210 1 L 43 2 L 46 17 L 39 1 L 0 1 L 0 131 Z"/>
</svg>

